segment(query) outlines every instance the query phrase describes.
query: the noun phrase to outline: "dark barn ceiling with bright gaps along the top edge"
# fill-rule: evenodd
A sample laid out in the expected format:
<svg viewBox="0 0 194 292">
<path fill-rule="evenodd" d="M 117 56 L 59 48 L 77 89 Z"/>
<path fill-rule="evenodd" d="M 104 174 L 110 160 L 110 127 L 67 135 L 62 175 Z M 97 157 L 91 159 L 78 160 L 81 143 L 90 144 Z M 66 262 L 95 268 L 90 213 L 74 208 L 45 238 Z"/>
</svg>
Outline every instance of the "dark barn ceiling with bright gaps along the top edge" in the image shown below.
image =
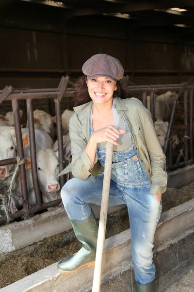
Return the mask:
<svg viewBox="0 0 194 292">
<path fill-rule="evenodd" d="M 194 25 L 194 0 L 19 0 L 28 5 L 63 9 L 65 19 L 103 15 L 126 18 L 139 26 Z M 180 8 L 172 10 L 172 8 Z"/>
</svg>

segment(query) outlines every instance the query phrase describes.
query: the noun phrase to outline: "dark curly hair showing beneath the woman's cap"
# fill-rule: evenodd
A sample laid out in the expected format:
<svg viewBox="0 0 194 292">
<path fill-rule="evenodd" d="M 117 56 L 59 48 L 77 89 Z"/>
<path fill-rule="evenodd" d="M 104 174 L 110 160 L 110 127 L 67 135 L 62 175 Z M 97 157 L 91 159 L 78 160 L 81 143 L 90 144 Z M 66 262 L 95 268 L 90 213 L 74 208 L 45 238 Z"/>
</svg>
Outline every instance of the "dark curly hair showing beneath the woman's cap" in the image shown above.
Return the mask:
<svg viewBox="0 0 194 292">
<path fill-rule="evenodd" d="M 74 105 L 75 107 L 81 106 L 89 101 L 91 101 L 91 97 L 88 93 L 88 87 L 86 84 L 87 77 L 81 76 L 76 82 L 77 90 L 74 92 Z M 121 85 L 120 81 L 116 82 L 117 89 L 113 93 L 113 97 L 120 97 L 122 99 L 131 97 L 131 93 Z"/>
</svg>

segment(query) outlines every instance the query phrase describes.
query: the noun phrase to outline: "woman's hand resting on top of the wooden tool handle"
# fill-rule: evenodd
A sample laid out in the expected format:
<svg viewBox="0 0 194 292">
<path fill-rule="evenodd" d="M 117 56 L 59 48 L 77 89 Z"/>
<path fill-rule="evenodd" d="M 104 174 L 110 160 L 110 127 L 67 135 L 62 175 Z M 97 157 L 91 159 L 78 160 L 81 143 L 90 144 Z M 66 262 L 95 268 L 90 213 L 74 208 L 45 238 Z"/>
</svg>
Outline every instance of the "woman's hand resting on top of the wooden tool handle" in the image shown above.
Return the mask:
<svg viewBox="0 0 194 292">
<path fill-rule="evenodd" d="M 117 139 L 120 134 L 124 134 L 125 132 L 125 130 L 117 130 L 117 128 L 110 125 L 94 132 L 90 136 L 90 139 L 93 143 L 111 142 L 113 145 L 118 146 L 119 144 L 117 143 Z"/>
</svg>

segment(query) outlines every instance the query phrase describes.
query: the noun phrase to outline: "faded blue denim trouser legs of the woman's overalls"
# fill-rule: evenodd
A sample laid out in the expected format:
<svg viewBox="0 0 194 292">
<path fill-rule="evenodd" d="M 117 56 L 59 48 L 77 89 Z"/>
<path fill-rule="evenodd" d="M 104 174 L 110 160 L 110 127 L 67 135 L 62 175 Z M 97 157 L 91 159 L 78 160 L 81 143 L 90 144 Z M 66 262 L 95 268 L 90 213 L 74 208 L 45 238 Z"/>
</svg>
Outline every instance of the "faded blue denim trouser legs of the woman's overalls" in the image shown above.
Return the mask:
<svg viewBox="0 0 194 292">
<path fill-rule="evenodd" d="M 73 178 L 61 191 L 67 215 L 72 220 L 86 220 L 92 214 L 89 203 L 101 204 L 104 175 L 91 176 L 86 181 Z M 154 280 L 153 241 L 162 204 L 149 193 L 151 183 L 141 187 L 118 188 L 111 180 L 109 206 L 126 204 L 131 229 L 132 263 L 135 279 L 145 285 Z"/>
</svg>

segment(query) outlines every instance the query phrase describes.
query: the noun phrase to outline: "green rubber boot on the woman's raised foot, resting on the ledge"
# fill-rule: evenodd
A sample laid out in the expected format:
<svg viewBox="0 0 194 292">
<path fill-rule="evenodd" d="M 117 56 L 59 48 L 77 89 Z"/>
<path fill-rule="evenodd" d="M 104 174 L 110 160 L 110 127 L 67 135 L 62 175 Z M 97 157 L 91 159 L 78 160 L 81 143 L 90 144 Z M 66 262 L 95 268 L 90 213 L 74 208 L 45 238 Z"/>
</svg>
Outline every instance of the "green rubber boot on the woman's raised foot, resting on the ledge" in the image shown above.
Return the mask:
<svg viewBox="0 0 194 292">
<path fill-rule="evenodd" d="M 97 220 L 92 215 L 84 221 L 70 220 L 76 237 L 82 243 L 78 253 L 60 260 L 57 269 L 61 274 L 77 272 L 83 266 L 94 267 L 97 249 Z"/>
</svg>

